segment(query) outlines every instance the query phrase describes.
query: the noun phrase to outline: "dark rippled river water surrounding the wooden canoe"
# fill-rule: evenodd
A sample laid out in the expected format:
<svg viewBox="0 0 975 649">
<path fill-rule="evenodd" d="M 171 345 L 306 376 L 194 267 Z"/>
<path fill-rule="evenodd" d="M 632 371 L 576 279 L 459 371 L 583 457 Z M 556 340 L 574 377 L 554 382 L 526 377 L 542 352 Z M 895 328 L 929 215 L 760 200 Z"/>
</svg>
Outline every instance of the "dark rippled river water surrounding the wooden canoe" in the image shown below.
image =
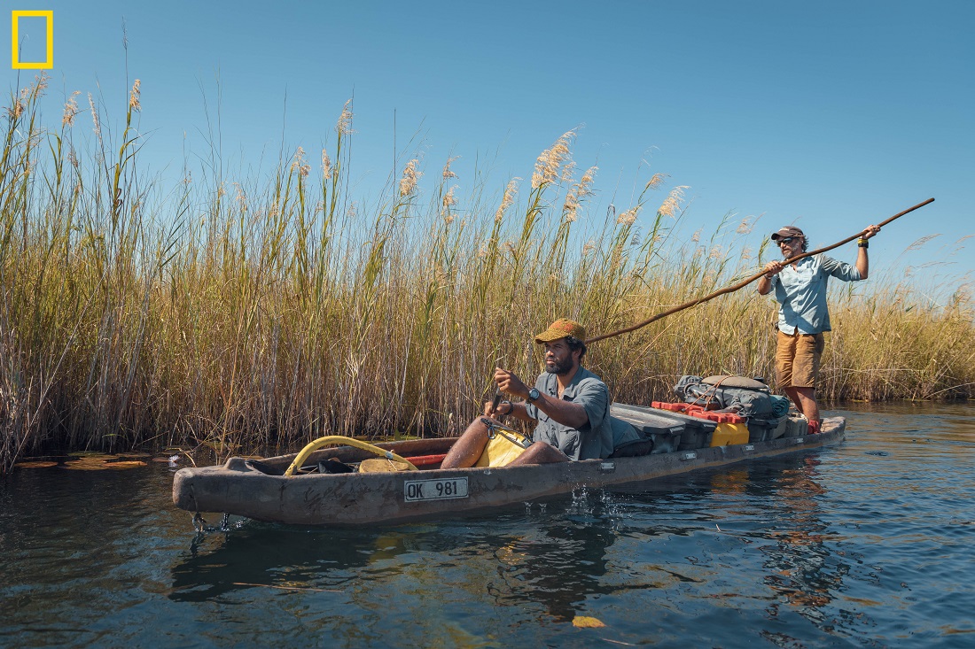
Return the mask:
<svg viewBox="0 0 975 649">
<path fill-rule="evenodd" d="M 830 414 L 832 449 L 364 530 L 197 535 L 165 465 L 21 470 L 0 645 L 975 646 L 975 408 Z"/>
</svg>

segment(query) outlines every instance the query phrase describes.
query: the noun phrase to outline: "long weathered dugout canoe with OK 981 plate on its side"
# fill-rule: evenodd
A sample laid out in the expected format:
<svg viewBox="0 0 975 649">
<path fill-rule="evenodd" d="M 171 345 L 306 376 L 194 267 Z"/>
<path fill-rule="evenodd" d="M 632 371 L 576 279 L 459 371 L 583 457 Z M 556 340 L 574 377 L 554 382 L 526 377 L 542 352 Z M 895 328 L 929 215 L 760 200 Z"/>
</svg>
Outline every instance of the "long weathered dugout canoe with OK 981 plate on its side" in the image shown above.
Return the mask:
<svg viewBox="0 0 975 649">
<path fill-rule="evenodd" d="M 614 415 L 657 417 L 649 408 L 613 404 Z M 643 414 L 642 414 L 643 412 Z M 677 416 L 664 413 L 663 416 Z M 679 422 L 680 423 L 680 422 Z M 722 467 L 758 458 L 805 452 L 839 443 L 846 422 L 841 417 L 823 420 L 817 435 L 761 439 L 725 446 L 687 448 L 697 439 L 686 435 L 677 443 L 677 426 L 661 434 L 657 450 L 641 457 L 585 460 L 560 464 L 470 469 L 440 469 L 437 459 L 456 438 L 414 439 L 376 444 L 407 459 L 417 471 L 381 473 L 282 473 L 299 454 L 268 458 L 256 463 L 231 457 L 223 465 L 187 468 L 176 472 L 173 502 L 193 513 L 242 515 L 256 520 L 301 525 L 369 525 L 466 514 L 565 494 L 578 487 L 605 487 Z M 760 436 L 764 437 L 764 436 Z M 343 463 L 375 457 L 354 446 L 323 448 L 302 459 L 301 466 L 336 458 Z M 423 460 L 432 464 L 423 466 Z M 297 465 L 295 465 L 297 466 Z"/>
</svg>

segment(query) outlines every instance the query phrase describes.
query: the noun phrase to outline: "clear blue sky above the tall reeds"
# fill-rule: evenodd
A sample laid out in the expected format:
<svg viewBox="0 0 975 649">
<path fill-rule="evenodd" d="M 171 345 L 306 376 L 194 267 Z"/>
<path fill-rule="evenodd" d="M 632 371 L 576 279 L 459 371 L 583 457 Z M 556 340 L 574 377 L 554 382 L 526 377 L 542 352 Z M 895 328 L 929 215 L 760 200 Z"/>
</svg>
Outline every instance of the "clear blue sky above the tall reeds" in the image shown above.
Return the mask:
<svg viewBox="0 0 975 649">
<path fill-rule="evenodd" d="M 314 161 L 354 95 L 352 169 L 364 187 L 392 168 L 394 111 L 402 154 L 421 134 L 427 179 L 461 156 L 461 194 L 479 157 L 494 161 L 500 191 L 510 176 L 530 178 L 539 152 L 580 127 L 575 160 L 600 167 L 592 218 L 610 201 L 627 204 L 642 160 L 690 186 L 686 227 L 708 231 L 729 211 L 763 214 L 762 231 L 795 222 L 814 246 L 934 197 L 884 229 L 872 261 L 951 262 L 925 271 L 935 281 L 975 269 L 970 252 L 950 254 L 975 234 L 975 2 L 20 0 L 4 8 L 55 12 L 46 121 L 59 120 L 75 90 L 83 107 L 85 94 L 100 93 L 121 119 L 139 78 L 143 160 L 167 174 L 182 166 L 183 132 L 191 159 L 204 155 L 204 94 L 215 112 L 218 77 L 232 167 L 269 169 L 282 140 Z M 20 28 L 24 58 L 43 43 L 36 22 Z M 9 24 L 0 20 L 7 53 Z M 16 71 L 3 69 L 13 90 Z M 33 74 L 21 72 L 20 85 Z M 87 115 L 79 119 L 90 131 Z M 934 234 L 942 236 L 898 257 Z"/>
</svg>

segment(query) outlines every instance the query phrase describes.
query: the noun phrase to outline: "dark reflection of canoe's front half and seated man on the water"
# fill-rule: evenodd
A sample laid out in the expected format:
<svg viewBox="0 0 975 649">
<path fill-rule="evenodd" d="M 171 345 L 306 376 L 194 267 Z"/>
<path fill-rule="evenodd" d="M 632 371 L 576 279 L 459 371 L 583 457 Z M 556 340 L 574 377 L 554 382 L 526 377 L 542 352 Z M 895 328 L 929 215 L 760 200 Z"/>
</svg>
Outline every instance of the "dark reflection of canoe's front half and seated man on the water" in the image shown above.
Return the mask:
<svg viewBox="0 0 975 649">
<path fill-rule="evenodd" d="M 567 508 L 553 504 L 555 514 L 538 504 L 526 515 L 513 508 L 496 525 L 460 520 L 371 532 L 231 525 L 194 540 L 171 569 L 169 598 L 226 601 L 265 586 L 347 592 L 372 608 L 384 587 L 409 578 L 571 621 L 587 597 L 612 591 L 602 578 L 615 531 L 603 524 L 599 496 L 576 494 Z"/>
</svg>

